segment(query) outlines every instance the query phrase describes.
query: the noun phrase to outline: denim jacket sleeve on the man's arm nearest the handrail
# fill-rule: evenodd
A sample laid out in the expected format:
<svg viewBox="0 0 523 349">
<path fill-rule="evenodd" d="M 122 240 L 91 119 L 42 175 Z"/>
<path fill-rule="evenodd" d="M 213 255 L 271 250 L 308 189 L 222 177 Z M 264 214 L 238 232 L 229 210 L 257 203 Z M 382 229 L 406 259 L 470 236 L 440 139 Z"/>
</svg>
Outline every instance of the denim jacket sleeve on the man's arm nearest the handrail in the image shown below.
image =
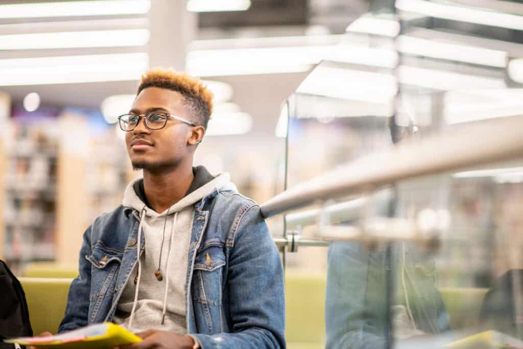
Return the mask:
<svg viewBox="0 0 523 349">
<path fill-rule="evenodd" d="M 193 334 L 203 349 L 285 348 L 283 268 L 259 206 L 231 232 L 228 287 L 232 333 Z"/>
</svg>

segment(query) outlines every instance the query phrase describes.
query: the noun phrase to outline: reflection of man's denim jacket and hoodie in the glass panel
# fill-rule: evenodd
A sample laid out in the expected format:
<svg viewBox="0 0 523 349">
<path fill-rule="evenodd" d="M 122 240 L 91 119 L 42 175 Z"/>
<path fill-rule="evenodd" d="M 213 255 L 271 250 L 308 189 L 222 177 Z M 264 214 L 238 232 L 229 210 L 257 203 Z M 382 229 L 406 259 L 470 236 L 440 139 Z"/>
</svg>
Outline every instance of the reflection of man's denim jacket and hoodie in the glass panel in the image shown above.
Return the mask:
<svg viewBox="0 0 523 349">
<path fill-rule="evenodd" d="M 391 305 L 394 338 L 449 330 L 449 316 L 435 285 L 434 261 L 415 246 L 392 244 L 391 249 L 397 284 Z M 333 242 L 327 259 L 326 347 L 383 348 L 390 267 L 384 250 L 368 252 L 358 243 Z"/>
</svg>

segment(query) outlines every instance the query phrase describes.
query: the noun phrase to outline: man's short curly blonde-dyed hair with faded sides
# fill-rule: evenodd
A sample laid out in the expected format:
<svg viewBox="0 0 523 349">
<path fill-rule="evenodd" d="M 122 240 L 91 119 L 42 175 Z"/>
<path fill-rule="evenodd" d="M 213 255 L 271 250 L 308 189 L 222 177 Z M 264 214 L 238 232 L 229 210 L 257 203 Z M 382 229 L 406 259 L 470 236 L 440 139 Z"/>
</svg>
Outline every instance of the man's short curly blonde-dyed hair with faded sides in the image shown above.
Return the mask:
<svg viewBox="0 0 523 349">
<path fill-rule="evenodd" d="M 137 95 L 147 87 L 166 88 L 179 92 L 185 97 L 185 104 L 191 111 L 197 125 L 207 128 L 212 115 L 212 92 L 199 78 L 174 69 L 151 69 L 142 75 Z"/>
</svg>

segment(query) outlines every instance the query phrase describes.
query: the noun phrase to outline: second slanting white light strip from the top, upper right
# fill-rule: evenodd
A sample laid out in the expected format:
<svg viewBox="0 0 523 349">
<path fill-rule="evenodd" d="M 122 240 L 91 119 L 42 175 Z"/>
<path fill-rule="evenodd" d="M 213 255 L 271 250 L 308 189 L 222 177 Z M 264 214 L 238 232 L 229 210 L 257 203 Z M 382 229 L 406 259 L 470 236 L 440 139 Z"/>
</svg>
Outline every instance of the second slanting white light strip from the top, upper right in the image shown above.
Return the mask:
<svg viewBox="0 0 523 349">
<path fill-rule="evenodd" d="M 504 51 L 465 46 L 463 44 L 402 35 L 397 38 L 397 48 L 403 53 L 436 59 L 488 65 L 498 68 L 504 68 L 507 65 L 507 53 Z"/>
</svg>

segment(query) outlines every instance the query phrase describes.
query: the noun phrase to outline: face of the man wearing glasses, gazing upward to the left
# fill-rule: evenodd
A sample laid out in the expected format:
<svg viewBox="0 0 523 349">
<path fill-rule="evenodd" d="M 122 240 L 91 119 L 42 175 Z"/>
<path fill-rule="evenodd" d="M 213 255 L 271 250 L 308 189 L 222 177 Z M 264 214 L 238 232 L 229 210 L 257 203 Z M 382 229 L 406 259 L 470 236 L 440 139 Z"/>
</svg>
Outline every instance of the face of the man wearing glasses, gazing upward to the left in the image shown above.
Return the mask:
<svg viewBox="0 0 523 349">
<path fill-rule="evenodd" d="M 132 114 L 146 114 L 151 111 L 164 112 L 192 121 L 184 105 L 184 96 L 165 88 L 143 89 L 130 110 Z M 141 117 L 136 128 L 126 132 L 127 151 L 132 166 L 150 171 L 175 168 L 192 152 L 189 148 L 191 134 L 191 126 L 174 118 L 168 118 L 163 129 L 150 130 L 145 127 L 145 120 Z"/>
</svg>

